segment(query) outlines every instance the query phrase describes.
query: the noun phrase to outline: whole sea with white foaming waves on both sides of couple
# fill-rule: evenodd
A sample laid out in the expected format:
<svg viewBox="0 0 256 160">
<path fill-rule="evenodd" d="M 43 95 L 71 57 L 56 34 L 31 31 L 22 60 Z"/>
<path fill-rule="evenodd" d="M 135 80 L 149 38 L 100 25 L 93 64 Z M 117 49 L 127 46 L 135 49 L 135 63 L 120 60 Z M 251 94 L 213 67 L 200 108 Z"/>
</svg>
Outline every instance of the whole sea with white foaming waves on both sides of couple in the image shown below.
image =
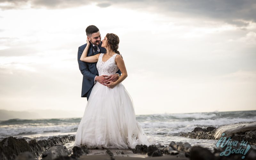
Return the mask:
<svg viewBox="0 0 256 160">
<path fill-rule="evenodd" d="M 82 118 L 82 117 L 81 117 Z M 52 136 L 74 135 L 81 118 L 56 119 L 9 119 L 0 121 L 0 140 L 13 136 L 44 140 Z M 237 122 L 256 121 L 256 110 L 234 112 L 207 112 L 182 114 L 137 115 L 137 121 L 148 136 L 152 136 L 159 144 L 169 145 L 171 141 L 188 142 L 192 146 L 199 145 L 213 150 L 217 140 L 198 140 L 180 137 L 181 132 L 191 132 L 195 127 L 219 127 Z M 66 144 L 72 149 L 73 143 Z M 253 145 L 252 147 L 255 148 Z"/>
</svg>

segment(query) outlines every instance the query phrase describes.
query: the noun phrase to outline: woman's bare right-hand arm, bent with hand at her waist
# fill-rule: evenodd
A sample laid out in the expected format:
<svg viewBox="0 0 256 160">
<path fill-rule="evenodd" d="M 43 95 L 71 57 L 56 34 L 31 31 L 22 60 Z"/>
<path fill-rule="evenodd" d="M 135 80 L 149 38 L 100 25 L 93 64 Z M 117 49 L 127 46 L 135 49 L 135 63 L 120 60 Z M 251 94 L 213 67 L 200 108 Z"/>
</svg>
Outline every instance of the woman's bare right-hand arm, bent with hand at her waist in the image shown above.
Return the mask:
<svg viewBox="0 0 256 160">
<path fill-rule="evenodd" d="M 122 72 L 122 75 L 120 76 L 120 78 L 116 82 L 109 81 L 110 83 L 107 84 L 107 86 L 109 88 L 115 87 L 117 84 L 121 83 L 128 76 L 125 65 L 124 65 L 124 60 L 120 55 L 116 55 L 115 62 L 116 62 L 117 67 Z"/>
</svg>

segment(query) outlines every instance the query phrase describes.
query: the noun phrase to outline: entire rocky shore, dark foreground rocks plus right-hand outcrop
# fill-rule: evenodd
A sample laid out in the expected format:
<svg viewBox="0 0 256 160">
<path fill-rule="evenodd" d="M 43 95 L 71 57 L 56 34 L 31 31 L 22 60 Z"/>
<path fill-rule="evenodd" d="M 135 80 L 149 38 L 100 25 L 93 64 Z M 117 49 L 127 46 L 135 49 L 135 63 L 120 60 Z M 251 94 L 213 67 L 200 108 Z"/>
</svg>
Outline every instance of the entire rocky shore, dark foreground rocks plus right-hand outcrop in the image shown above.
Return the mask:
<svg viewBox="0 0 256 160">
<path fill-rule="evenodd" d="M 221 133 L 232 137 L 233 140 L 247 140 L 255 144 L 256 122 L 241 122 L 228 124 L 219 128 L 196 127 L 192 132 L 181 133 L 181 136 L 196 139 L 220 139 Z M 191 146 L 189 143 L 170 141 L 168 146 L 163 145 L 137 145 L 134 149 L 88 149 L 87 146 L 68 149 L 65 144 L 70 144 L 75 137 L 62 136 L 50 137 L 47 140 L 32 139 L 28 142 L 24 138 L 7 137 L 0 142 L 0 160 L 85 160 L 85 159 L 178 159 L 178 160 L 235 160 L 256 159 L 256 150 L 248 145 L 235 146 L 234 153 L 227 154 L 226 147 L 208 148 Z M 217 145 L 217 144 L 216 144 Z M 241 146 L 241 147 L 240 147 Z M 240 148 L 239 148 L 240 147 Z M 233 149 L 233 148 L 232 148 Z M 247 151 L 245 151 L 248 149 Z M 241 154 L 243 150 L 244 154 Z M 230 150 L 231 152 L 231 150 Z M 233 152 L 233 151 L 232 151 Z M 224 153 L 224 156 L 223 154 Z M 222 154 L 222 156 L 220 156 Z"/>
</svg>

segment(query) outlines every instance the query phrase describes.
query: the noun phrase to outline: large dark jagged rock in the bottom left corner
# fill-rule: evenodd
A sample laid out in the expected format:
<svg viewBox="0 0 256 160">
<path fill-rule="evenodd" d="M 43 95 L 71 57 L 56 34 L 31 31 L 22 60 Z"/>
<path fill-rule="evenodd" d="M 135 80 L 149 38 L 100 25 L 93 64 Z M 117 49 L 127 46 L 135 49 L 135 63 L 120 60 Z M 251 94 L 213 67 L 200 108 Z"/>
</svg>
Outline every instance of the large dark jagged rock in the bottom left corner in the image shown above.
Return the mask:
<svg viewBox="0 0 256 160">
<path fill-rule="evenodd" d="M 26 151 L 30 152 L 33 157 L 36 157 L 36 154 L 33 154 L 28 142 L 24 138 L 16 139 L 11 136 L 4 138 L 0 142 L 1 160 L 14 160 L 20 153 Z"/>
</svg>

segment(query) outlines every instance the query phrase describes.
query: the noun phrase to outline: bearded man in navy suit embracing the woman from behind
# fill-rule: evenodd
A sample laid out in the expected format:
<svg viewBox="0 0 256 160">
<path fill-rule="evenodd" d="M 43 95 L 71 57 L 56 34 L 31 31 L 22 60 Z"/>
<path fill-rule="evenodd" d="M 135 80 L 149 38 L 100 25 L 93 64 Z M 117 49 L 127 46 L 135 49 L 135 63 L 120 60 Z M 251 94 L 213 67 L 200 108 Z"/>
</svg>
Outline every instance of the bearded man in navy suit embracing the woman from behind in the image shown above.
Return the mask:
<svg viewBox="0 0 256 160">
<path fill-rule="evenodd" d="M 89 37 L 89 40 L 92 45 L 90 45 L 89 50 L 87 52 L 87 56 L 92 56 L 98 53 L 106 53 L 106 49 L 101 47 L 101 35 L 100 31 L 96 26 L 88 26 L 85 29 L 86 36 Z M 79 69 L 83 75 L 83 84 L 82 84 L 82 95 L 81 97 L 87 97 L 92 92 L 93 85 L 98 81 L 100 84 L 106 85 L 108 81 L 115 82 L 121 74 L 121 71 L 118 70 L 115 75 L 102 75 L 99 76 L 98 70 L 96 68 L 97 63 L 87 63 L 80 60 L 80 57 L 85 49 L 87 44 L 81 45 L 78 47 L 77 53 L 77 61 Z"/>
</svg>

